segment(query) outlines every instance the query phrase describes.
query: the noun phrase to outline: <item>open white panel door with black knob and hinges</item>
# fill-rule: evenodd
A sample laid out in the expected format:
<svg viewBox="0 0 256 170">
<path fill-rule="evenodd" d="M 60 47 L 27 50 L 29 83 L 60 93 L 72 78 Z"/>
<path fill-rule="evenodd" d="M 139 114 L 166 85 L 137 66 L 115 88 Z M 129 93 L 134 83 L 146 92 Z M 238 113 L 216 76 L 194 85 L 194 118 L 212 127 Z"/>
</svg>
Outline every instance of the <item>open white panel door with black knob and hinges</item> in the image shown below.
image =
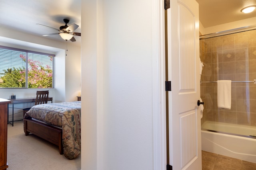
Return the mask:
<svg viewBox="0 0 256 170">
<path fill-rule="evenodd" d="M 170 164 L 202 169 L 199 74 L 199 10 L 196 0 L 171 0 L 168 9 Z"/>
</svg>

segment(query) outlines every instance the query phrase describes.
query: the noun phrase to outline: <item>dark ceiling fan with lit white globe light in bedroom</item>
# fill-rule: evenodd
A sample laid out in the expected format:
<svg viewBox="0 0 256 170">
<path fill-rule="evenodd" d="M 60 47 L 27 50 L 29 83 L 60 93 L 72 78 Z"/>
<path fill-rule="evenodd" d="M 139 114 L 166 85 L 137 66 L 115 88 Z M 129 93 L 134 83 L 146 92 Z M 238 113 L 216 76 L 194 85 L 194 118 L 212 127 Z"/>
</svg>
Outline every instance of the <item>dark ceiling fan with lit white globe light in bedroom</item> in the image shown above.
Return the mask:
<svg viewBox="0 0 256 170">
<path fill-rule="evenodd" d="M 60 29 L 49 27 L 49 26 L 46 26 L 46 25 L 42 25 L 40 23 L 37 23 L 37 24 L 45 26 L 45 27 L 52 28 L 56 31 L 60 31 L 60 33 L 51 33 L 51 34 L 46 34 L 46 35 L 43 35 L 43 36 L 59 34 L 60 37 L 62 37 L 62 39 L 66 40 L 66 41 L 68 41 L 68 40 L 70 40 L 72 42 L 76 41 L 76 39 L 73 35 L 81 36 L 81 33 L 73 32 L 73 31 L 76 30 L 79 27 L 79 25 L 76 25 L 75 23 L 73 23 L 73 24 L 68 26 L 67 23 L 69 22 L 69 20 L 65 18 L 63 21 L 64 21 L 65 25 L 60 26 Z"/>
</svg>

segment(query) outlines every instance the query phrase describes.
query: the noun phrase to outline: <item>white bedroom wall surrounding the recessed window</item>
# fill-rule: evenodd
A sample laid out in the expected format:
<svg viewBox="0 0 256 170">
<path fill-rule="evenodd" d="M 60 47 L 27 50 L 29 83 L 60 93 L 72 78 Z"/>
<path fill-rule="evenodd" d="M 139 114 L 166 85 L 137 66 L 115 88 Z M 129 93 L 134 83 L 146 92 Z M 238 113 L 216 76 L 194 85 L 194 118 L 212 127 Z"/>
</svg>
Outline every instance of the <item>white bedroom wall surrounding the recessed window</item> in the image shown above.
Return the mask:
<svg viewBox="0 0 256 170">
<path fill-rule="evenodd" d="M 53 97 L 53 102 L 70 102 L 77 100 L 76 96 L 80 96 L 81 89 L 80 46 L 68 43 L 68 55 L 65 57 L 65 41 L 54 41 L 41 36 L 14 31 L 2 26 L 0 29 L 0 45 L 54 53 L 56 55 L 56 86 L 55 89 L 49 89 L 49 96 Z M 36 89 L 0 89 L 0 98 L 8 99 L 12 94 L 16 94 L 16 98 L 35 97 Z M 22 119 L 22 108 L 31 107 L 32 105 L 33 104 L 14 105 L 19 108 L 14 111 L 14 120 Z M 12 111 L 10 113 L 12 113 Z M 9 116 L 9 120 L 10 117 L 11 116 Z"/>
</svg>

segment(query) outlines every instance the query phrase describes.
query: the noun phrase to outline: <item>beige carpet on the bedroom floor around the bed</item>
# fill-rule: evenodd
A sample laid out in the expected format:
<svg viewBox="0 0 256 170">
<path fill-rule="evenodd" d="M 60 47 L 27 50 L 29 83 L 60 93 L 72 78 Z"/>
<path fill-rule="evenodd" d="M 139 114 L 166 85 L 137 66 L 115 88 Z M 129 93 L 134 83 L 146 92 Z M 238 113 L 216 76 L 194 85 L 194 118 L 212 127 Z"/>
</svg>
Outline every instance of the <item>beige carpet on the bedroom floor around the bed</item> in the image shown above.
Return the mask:
<svg viewBox="0 0 256 170">
<path fill-rule="evenodd" d="M 23 121 L 8 124 L 7 170 L 80 170 L 81 158 L 68 160 L 58 147 L 36 137 L 25 136 Z"/>
</svg>

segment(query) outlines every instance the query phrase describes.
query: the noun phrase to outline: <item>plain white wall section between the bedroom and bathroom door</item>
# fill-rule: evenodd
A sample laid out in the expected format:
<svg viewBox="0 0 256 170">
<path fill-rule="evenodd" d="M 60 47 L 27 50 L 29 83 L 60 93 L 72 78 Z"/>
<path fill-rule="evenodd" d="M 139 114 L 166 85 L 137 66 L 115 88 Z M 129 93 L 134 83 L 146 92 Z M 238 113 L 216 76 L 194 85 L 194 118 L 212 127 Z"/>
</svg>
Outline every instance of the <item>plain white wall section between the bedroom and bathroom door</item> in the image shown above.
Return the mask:
<svg viewBox="0 0 256 170">
<path fill-rule="evenodd" d="M 153 2 L 82 1 L 82 170 L 154 167 Z"/>
</svg>

